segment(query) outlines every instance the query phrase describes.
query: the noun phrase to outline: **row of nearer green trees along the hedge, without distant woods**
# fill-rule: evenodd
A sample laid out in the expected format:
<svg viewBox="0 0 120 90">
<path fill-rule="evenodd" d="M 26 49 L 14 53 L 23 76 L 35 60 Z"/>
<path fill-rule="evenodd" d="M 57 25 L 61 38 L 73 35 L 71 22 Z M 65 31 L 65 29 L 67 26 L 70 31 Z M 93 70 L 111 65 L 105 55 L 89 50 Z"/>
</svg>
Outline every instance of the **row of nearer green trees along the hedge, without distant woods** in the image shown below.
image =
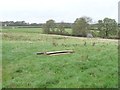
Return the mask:
<svg viewBox="0 0 120 90">
<path fill-rule="evenodd" d="M 87 34 L 92 34 L 94 37 L 101 38 L 113 38 L 118 39 L 119 27 L 115 19 L 104 18 L 98 20 L 96 24 L 91 24 L 92 19 L 90 17 L 77 18 L 74 23 L 70 25 L 72 33 L 68 33 L 65 30 L 65 23 L 61 22 L 56 24 L 55 20 L 50 19 L 43 25 L 44 34 L 60 34 L 69 36 L 86 37 Z"/>
</svg>

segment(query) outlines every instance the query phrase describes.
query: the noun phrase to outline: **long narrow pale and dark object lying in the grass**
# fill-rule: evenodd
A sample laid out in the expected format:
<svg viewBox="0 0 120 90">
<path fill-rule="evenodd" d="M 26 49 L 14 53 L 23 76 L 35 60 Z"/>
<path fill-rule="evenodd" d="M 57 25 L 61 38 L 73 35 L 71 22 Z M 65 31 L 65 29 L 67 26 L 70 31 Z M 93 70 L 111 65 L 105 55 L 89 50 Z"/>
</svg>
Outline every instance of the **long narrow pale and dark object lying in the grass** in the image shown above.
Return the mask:
<svg viewBox="0 0 120 90">
<path fill-rule="evenodd" d="M 71 54 L 74 53 L 73 50 L 62 50 L 62 51 L 51 51 L 51 52 L 37 52 L 37 55 L 62 55 L 62 54 Z"/>
</svg>

